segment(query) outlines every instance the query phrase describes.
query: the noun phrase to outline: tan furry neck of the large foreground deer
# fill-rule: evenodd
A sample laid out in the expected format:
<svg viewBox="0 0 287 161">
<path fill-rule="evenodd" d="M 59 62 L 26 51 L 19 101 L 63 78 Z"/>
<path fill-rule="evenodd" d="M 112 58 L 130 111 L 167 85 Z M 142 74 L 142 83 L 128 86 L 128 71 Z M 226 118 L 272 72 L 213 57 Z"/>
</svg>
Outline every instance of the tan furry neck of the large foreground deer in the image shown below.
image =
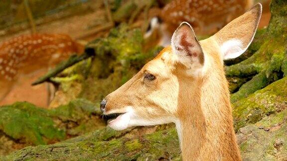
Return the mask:
<svg viewBox="0 0 287 161">
<path fill-rule="evenodd" d="M 179 95 L 182 111 L 179 111 L 176 129 L 184 161 L 241 160 L 233 129 L 228 82 L 224 74 L 212 75 L 189 91 L 186 87 L 179 89 L 184 92 Z"/>
</svg>

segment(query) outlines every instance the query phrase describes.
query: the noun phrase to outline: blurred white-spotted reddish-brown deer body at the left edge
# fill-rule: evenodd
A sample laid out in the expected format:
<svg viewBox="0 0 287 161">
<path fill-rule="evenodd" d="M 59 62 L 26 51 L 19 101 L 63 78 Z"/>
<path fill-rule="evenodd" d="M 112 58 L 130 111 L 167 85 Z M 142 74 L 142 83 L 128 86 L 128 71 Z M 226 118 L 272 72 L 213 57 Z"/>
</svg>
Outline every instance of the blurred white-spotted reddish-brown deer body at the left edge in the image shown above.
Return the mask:
<svg viewBox="0 0 287 161">
<path fill-rule="evenodd" d="M 0 100 L 19 74 L 52 67 L 83 50 L 81 44 L 64 34 L 22 35 L 0 43 Z"/>
</svg>

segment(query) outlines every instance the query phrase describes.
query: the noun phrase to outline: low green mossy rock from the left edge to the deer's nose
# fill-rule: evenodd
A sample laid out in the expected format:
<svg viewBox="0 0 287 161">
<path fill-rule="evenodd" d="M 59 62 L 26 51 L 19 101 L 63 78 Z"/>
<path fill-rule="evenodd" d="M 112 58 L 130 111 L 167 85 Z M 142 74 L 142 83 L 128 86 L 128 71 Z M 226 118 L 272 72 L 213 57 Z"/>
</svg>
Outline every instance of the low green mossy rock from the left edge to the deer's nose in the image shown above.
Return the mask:
<svg viewBox="0 0 287 161">
<path fill-rule="evenodd" d="M 0 107 L 0 155 L 29 145 L 46 145 L 105 126 L 100 110 L 85 99 L 47 110 L 28 102 Z"/>
</svg>

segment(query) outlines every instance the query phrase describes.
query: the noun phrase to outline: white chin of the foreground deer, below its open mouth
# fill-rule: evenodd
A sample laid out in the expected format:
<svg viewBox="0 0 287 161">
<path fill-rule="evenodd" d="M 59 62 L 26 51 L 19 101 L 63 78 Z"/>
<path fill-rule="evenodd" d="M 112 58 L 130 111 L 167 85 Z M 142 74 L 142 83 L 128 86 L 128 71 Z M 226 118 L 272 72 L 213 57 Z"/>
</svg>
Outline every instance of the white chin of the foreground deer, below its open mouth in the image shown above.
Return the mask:
<svg viewBox="0 0 287 161">
<path fill-rule="evenodd" d="M 124 113 L 118 116 L 116 119 L 110 121 L 108 125 L 114 130 L 125 130 L 129 127 L 131 117 L 129 113 Z"/>
</svg>

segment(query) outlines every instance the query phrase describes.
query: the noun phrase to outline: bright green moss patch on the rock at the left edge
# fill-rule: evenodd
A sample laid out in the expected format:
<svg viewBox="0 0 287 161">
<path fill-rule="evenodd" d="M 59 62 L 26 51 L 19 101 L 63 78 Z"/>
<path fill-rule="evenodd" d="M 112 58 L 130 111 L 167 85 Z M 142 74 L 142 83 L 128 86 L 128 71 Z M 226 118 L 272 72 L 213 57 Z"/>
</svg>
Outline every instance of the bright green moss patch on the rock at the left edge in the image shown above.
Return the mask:
<svg viewBox="0 0 287 161">
<path fill-rule="evenodd" d="M 30 103 L 15 103 L 0 108 L 0 131 L 11 138 L 24 139 L 26 142 L 39 145 L 48 140 L 63 140 L 65 132 L 55 126 L 46 110 Z"/>
</svg>

